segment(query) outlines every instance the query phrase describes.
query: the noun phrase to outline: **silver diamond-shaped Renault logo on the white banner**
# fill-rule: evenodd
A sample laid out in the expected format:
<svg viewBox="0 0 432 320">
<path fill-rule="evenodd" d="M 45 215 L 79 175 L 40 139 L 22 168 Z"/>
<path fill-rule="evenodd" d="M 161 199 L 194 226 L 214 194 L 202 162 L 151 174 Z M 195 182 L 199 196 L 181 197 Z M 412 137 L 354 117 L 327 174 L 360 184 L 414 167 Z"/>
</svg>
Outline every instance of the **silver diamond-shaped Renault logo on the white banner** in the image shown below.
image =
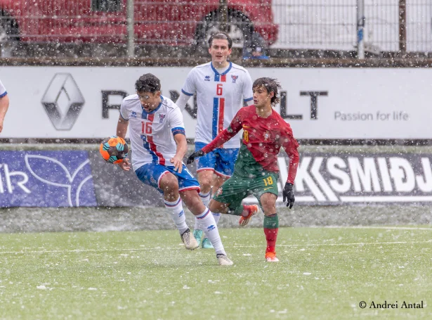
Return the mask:
<svg viewBox="0 0 432 320">
<path fill-rule="evenodd" d="M 70 73 L 56 73 L 41 102 L 55 129 L 70 130 L 85 101 Z"/>
</svg>

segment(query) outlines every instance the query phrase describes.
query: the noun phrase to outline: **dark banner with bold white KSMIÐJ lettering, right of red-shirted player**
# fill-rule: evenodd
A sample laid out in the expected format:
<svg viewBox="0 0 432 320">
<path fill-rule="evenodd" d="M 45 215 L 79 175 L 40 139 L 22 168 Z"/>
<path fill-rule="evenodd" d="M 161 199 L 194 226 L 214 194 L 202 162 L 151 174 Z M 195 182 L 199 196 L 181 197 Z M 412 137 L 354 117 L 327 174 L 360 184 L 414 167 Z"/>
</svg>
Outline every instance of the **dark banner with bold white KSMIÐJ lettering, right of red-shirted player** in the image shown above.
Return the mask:
<svg viewBox="0 0 432 320">
<path fill-rule="evenodd" d="M 302 153 L 294 184 L 297 203 L 431 203 L 431 155 Z M 279 189 L 288 158 L 280 157 Z"/>
</svg>

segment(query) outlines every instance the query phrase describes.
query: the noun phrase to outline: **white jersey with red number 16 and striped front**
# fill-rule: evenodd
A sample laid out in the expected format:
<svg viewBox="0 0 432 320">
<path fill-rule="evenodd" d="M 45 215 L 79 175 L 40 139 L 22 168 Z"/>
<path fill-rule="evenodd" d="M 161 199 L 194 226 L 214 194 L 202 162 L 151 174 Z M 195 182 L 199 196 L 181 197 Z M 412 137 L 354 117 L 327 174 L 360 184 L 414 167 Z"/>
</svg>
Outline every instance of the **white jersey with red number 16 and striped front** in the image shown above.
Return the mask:
<svg viewBox="0 0 432 320">
<path fill-rule="evenodd" d="M 176 103 L 161 96 L 157 108 L 147 113 L 138 94 L 132 94 L 123 99 L 120 115 L 129 120 L 133 170 L 146 163 L 172 166 L 169 160 L 177 150 L 174 135 L 185 133 L 183 115 Z"/>
</svg>

